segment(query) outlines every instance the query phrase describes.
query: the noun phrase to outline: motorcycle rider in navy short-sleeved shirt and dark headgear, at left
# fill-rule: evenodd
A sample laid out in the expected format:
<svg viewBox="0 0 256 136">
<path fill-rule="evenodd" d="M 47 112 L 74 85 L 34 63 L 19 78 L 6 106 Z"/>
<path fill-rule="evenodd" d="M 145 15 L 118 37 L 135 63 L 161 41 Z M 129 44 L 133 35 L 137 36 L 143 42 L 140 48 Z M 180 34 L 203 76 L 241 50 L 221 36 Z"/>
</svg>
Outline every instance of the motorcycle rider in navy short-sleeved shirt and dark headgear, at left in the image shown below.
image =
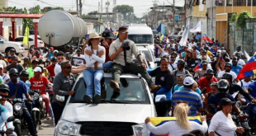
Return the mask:
<svg viewBox="0 0 256 136">
<path fill-rule="evenodd" d="M 28 94 L 28 91 L 26 90 L 26 84 L 22 81 L 17 80 L 18 77 L 18 71 L 16 68 L 12 68 L 10 71 L 10 77 L 11 81 L 7 82 L 7 85 L 10 88 L 10 94 L 9 98 L 20 98 L 23 99 L 23 94 L 25 94 L 26 99 L 28 101 L 33 101 L 31 96 Z M 32 136 L 37 136 L 36 134 L 36 128 L 35 124 L 31 118 L 31 114 L 29 111 L 26 109 L 25 102 L 22 101 L 22 110 L 23 110 L 23 115 L 26 120 L 26 123 L 28 125 L 28 129 L 31 133 Z"/>
</svg>

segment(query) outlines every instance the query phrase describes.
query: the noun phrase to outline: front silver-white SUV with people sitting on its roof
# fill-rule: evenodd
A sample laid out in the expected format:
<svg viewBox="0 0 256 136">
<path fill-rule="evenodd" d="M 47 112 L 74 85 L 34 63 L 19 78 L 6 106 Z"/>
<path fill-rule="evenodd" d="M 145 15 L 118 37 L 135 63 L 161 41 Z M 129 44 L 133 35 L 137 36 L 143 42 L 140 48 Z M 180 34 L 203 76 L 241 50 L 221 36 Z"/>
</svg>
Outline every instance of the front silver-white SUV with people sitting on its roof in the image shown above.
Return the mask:
<svg viewBox="0 0 256 136">
<path fill-rule="evenodd" d="M 78 76 L 73 86 L 75 94 L 67 100 L 55 136 L 142 134 L 145 118 L 156 117 L 147 82 L 134 74 L 121 74 L 121 91 L 118 93 L 109 86 L 111 79 L 111 73 L 104 73 L 102 101 L 87 104 L 83 101 L 86 94 L 83 73 Z"/>
</svg>

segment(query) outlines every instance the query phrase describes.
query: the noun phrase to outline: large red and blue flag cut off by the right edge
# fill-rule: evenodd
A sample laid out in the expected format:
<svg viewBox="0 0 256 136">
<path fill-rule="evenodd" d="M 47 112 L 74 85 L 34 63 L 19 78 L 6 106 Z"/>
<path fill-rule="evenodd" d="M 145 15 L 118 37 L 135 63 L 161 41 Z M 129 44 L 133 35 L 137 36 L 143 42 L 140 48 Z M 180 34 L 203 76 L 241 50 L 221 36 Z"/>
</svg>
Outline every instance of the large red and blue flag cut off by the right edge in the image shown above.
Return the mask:
<svg viewBox="0 0 256 136">
<path fill-rule="evenodd" d="M 249 59 L 247 63 L 245 63 L 244 67 L 238 73 L 236 79 L 248 77 L 250 74 L 254 73 L 254 69 L 256 69 L 256 54 Z"/>
</svg>

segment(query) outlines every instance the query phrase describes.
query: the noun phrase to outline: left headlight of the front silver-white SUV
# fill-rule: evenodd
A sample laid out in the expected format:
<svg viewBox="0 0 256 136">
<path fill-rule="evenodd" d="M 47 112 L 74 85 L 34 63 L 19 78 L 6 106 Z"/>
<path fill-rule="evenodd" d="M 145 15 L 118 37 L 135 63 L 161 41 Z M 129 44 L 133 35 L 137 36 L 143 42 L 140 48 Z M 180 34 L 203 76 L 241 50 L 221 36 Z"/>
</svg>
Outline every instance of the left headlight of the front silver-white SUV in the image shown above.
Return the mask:
<svg viewBox="0 0 256 136">
<path fill-rule="evenodd" d="M 60 120 L 58 128 L 60 134 L 79 135 L 81 124 L 73 124 L 68 121 Z"/>
</svg>

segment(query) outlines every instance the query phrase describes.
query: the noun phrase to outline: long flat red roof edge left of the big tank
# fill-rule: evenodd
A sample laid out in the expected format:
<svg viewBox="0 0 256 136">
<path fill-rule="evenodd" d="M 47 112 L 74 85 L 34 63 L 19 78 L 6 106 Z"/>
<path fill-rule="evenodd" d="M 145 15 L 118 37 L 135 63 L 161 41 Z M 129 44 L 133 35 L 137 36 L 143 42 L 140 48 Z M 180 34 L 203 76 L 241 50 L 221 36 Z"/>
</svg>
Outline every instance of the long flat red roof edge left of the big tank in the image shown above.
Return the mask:
<svg viewBox="0 0 256 136">
<path fill-rule="evenodd" d="M 35 18 L 39 19 L 44 14 L 0 14 L 0 18 Z"/>
</svg>

